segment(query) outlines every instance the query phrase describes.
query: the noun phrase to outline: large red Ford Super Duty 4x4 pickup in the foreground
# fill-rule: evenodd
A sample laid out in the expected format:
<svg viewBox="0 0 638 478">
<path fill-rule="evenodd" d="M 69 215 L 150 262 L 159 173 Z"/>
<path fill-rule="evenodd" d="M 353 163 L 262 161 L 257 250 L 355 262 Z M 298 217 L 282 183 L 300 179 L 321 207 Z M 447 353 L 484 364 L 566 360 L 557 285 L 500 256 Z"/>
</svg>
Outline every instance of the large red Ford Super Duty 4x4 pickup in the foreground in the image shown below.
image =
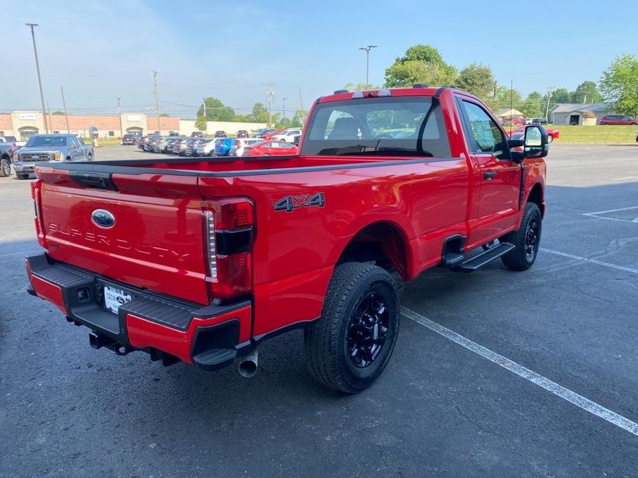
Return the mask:
<svg viewBox="0 0 638 478">
<path fill-rule="evenodd" d="M 535 262 L 547 152 L 541 126 L 508 139 L 475 96 L 415 85 L 319 98 L 295 156 L 38 165 L 29 292 L 96 349 L 243 375 L 303 328 L 312 375 L 355 393 L 395 346 L 395 278 Z"/>
</svg>

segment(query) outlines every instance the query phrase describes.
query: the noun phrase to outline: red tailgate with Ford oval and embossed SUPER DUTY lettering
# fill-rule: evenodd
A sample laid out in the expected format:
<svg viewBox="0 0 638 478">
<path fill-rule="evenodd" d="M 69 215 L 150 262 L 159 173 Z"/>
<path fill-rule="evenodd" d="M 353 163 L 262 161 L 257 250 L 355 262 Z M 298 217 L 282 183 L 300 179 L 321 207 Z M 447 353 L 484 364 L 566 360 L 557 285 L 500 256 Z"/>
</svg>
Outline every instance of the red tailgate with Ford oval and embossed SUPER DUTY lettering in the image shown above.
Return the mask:
<svg viewBox="0 0 638 478">
<path fill-rule="evenodd" d="M 37 174 L 41 223 L 53 259 L 208 304 L 197 176 L 114 173 L 109 185 L 116 190 L 110 190 L 85 187 L 73 175 L 49 167 Z M 107 226 L 114 219 L 112 226 L 97 224 L 105 214 L 95 216 L 98 209 L 106 211 Z"/>
</svg>

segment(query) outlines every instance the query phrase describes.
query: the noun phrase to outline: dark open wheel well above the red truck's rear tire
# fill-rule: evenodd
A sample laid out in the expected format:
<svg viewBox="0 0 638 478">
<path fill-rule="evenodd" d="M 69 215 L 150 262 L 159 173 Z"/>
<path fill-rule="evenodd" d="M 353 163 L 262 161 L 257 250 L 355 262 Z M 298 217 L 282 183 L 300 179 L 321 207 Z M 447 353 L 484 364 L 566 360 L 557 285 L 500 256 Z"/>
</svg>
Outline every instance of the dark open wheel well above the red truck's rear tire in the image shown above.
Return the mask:
<svg viewBox="0 0 638 478">
<path fill-rule="evenodd" d="M 337 260 L 337 264 L 343 262 L 374 262 L 408 278 L 406 241 L 399 228 L 389 222 L 375 222 L 356 233 Z"/>
</svg>

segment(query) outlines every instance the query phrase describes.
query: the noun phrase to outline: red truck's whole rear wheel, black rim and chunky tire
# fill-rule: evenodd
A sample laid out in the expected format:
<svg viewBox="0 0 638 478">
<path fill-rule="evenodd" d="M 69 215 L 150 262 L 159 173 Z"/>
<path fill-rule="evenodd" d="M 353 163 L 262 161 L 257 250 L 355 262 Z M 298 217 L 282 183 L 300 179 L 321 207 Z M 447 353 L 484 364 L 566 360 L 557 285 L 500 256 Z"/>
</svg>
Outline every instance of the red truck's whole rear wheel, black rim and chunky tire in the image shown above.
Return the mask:
<svg viewBox="0 0 638 478">
<path fill-rule="evenodd" d="M 321 318 L 303 333 L 310 375 L 343 393 L 367 388 L 390 360 L 399 318 L 397 287 L 386 270 L 359 262 L 338 265 Z"/>
</svg>

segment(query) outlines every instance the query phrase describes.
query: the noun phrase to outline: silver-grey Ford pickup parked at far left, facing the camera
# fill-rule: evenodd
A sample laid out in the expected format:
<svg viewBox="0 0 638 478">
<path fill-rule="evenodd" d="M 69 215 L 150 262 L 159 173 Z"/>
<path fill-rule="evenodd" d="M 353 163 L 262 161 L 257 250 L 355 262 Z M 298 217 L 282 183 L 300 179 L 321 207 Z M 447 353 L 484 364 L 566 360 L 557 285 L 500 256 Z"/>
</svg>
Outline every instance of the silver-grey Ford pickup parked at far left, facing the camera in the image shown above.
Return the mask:
<svg viewBox="0 0 638 478">
<path fill-rule="evenodd" d="M 27 179 L 35 165 L 48 161 L 92 161 L 94 150 L 74 134 L 34 134 L 13 156 L 18 179 Z"/>
</svg>

